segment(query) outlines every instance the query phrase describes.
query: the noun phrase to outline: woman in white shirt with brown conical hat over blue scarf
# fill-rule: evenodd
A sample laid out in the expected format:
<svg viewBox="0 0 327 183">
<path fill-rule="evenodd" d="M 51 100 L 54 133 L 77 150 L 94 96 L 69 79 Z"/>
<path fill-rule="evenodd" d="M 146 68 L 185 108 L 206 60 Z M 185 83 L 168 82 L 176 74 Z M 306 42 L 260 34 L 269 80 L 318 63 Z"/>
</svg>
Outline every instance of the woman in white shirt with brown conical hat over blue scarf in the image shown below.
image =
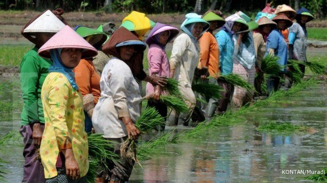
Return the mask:
<svg viewBox="0 0 327 183">
<path fill-rule="evenodd" d="M 144 42 L 121 27 L 110 36 L 102 49 L 113 57 L 101 75 L 101 97 L 94 108 L 92 123 L 96 133 L 117 142 L 114 144 L 114 153 L 120 157 L 120 144 L 128 137 L 137 139 L 140 134 L 134 124 L 140 117 L 141 94 L 130 63 L 145 48 Z M 99 176 L 112 183 L 124 183 L 128 181 L 133 165 L 133 160 L 121 157 L 109 163 L 109 172 L 102 170 Z"/>
</svg>

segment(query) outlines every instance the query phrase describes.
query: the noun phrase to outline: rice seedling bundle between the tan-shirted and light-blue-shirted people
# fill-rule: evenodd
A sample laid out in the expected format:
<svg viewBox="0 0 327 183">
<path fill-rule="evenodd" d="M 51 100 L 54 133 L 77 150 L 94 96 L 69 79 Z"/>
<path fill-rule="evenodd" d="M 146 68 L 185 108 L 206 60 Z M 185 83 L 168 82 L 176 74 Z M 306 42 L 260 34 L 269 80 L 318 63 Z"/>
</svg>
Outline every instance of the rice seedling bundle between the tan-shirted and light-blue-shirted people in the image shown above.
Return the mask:
<svg viewBox="0 0 327 183">
<path fill-rule="evenodd" d="M 261 70 L 265 74 L 278 76 L 280 69 L 281 69 L 281 66 L 278 63 L 278 60 L 279 60 L 278 56 L 268 54 L 261 61 Z"/>
</svg>

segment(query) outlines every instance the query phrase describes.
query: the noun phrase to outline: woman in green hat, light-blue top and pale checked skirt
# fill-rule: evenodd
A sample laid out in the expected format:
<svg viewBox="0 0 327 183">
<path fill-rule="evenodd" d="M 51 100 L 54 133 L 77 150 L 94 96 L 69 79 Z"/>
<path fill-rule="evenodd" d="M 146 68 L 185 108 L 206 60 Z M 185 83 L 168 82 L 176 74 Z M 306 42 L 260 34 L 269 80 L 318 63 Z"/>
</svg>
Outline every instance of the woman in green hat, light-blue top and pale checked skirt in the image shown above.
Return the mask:
<svg viewBox="0 0 327 183">
<path fill-rule="evenodd" d="M 240 14 L 242 12 L 238 12 Z M 249 84 L 254 85 L 255 76 L 255 50 L 253 43 L 252 30 L 258 28 L 258 24 L 246 14 L 242 13 L 240 16 L 249 22 L 249 28 L 245 31 L 234 34 L 234 55 L 233 55 L 233 73 L 241 76 Z M 232 98 L 232 106 L 234 108 L 241 108 L 246 103 L 252 100 L 253 93 L 244 88 L 235 86 Z"/>
</svg>

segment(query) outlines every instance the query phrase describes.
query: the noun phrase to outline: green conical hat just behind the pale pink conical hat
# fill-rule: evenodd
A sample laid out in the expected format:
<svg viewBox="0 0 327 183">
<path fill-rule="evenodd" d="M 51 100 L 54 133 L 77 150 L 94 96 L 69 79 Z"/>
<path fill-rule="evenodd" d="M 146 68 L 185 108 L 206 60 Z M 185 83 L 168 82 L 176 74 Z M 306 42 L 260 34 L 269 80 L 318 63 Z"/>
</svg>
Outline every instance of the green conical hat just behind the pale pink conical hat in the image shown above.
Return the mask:
<svg viewBox="0 0 327 183">
<path fill-rule="evenodd" d="M 75 31 L 81 37 L 86 39 L 91 45 L 93 45 L 95 47 L 97 47 L 98 45 L 101 46 L 107 40 L 107 34 L 105 34 L 102 31 L 99 31 L 97 29 L 87 28 L 87 27 L 83 27 L 83 26 L 79 26 L 75 29 L 76 29 Z M 89 37 L 89 36 L 92 36 L 92 37 Z"/>
</svg>

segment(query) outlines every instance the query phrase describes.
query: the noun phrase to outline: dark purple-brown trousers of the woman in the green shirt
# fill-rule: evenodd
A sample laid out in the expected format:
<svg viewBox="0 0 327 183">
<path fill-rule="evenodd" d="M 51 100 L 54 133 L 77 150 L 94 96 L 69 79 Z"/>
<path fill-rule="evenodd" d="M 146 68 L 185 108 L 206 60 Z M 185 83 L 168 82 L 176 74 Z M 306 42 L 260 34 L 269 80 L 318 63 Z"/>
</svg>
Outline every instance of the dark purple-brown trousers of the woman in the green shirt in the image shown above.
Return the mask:
<svg viewBox="0 0 327 183">
<path fill-rule="evenodd" d="M 44 124 L 41 124 L 41 127 L 44 130 Z M 25 158 L 22 183 L 45 183 L 46 179 L 44 176 L 43 166 L 39 160 L 34 161 L 36 147 L 32 143 L 32 124 L 21 126 L 19 133 L 21 136 L 23 136 L 23 156 Z"/>
</svg>

